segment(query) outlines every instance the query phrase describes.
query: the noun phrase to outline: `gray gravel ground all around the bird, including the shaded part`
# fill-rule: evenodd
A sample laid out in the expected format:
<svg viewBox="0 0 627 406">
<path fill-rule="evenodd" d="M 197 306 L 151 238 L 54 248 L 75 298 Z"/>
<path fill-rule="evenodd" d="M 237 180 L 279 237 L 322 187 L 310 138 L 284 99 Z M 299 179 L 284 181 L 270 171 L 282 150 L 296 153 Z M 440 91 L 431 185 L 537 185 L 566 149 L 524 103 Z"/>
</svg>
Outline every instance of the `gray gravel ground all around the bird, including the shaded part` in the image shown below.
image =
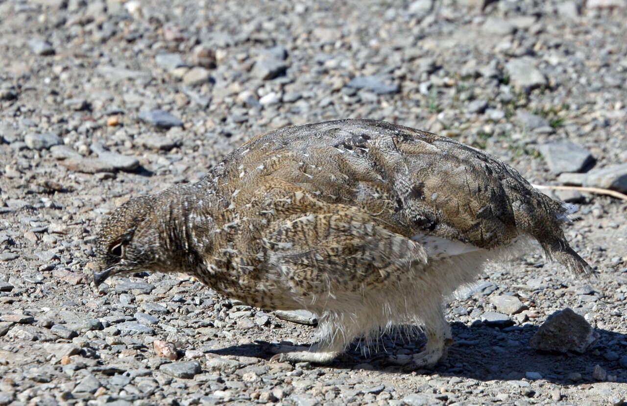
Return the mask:
<svg viewBox="0 0 627 406">
<path fill-rule="evenodd" d="M 557 193 L 599 277 L 540 252 L 495 264 L 447 305 L 457 343 L 435 370 L 408 368 L 423 341 L 402 331 L 325 367 L 269 363 L 314 327 L 182 275 L 88 283 L 117 204 L 286 125 L 383 119 L 537 184 L 627 191 L 627 2 L 485 3 L 0 2 L 0 405 L 622 404 L 626 204 L 603 195 Z M 530 348 L 566 307 L 598 340 Z"/>
</svg>

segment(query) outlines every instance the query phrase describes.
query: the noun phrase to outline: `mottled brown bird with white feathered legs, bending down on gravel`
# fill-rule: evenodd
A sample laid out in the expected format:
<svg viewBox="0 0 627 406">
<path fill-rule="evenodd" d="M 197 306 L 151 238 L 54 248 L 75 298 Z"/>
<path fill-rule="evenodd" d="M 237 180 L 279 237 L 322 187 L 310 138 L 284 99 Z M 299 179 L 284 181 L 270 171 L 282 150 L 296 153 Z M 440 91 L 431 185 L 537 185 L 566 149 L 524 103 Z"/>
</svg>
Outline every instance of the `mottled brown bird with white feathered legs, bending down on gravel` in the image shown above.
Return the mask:
<svg viewBox="0 0 627 406">
<path fill-rule="evenodd" d="M 564 236 L 571 211 L 452 138 L 366 119 L 285 127 L 194 184 L 115 209 L 93 282 L 181 272 L 250 306 L 318 315 L 317 343 L 279 362 L 330 363 L 358 338 L 421 326 L 411 357 L 429 368 L 454 342 L 444 301 L 490 261 L 536 241 L 575 276 L 593 273 Z"/>
</svg>

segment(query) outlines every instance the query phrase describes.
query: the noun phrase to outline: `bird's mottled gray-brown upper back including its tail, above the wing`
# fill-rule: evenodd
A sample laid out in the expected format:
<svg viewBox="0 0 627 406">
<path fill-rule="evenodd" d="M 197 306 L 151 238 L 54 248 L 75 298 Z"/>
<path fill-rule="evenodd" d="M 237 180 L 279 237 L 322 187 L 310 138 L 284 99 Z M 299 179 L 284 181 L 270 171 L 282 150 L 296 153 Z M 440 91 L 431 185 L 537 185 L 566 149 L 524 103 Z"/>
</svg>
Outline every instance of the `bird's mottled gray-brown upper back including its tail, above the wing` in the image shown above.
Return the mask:
<svg viewBox="0 0 627 406">
<path fill-rule="evenodd" d="M 327 209 L 361 209 L 424 244 L 492 249 L 531 236 L 571 271 L 589 269 L 564 239 L 560 202 L 495 157 L 433 133 L 374 120 L 283 128 L 253 138 L 205 179 L 224 196 L 236 192 L 231 207 L 244 206 L 275 181 Z"/>
</svg>

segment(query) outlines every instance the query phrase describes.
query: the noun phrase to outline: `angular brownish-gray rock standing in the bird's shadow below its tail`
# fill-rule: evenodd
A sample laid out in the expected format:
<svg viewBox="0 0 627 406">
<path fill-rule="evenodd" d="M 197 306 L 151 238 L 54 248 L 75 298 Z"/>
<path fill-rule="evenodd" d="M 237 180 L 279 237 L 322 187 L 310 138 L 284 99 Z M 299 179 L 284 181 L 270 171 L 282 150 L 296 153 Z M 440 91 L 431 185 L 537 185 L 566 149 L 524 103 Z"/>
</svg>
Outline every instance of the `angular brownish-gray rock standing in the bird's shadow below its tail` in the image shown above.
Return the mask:
<svg viewBox="0 0 627 406">
<path fill-rule="evenodd" d="M 566 308 L 549 316 L 529 344 L 535 350 L 584 353 L 596 338 L 586 319 Z"/>
</svg>

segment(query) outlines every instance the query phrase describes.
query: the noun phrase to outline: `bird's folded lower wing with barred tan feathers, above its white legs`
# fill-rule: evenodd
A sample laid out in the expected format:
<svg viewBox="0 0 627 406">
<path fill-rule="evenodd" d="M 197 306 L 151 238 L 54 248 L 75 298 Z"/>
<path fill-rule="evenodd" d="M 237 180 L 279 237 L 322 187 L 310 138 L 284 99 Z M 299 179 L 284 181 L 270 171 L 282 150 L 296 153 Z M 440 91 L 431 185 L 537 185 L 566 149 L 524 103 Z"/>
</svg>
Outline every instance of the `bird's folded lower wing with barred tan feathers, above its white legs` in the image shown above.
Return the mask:
<svg viewBox="0 0 627 406">
<path fill-rule="evenodd" d="M 360 209 L 341 205 L 274 222 L 263 244 L 266 266 L 278 269 L 302 298 L 376 289 L 427 262 L 418 242 L 379 226 Z"/>
</svg>

